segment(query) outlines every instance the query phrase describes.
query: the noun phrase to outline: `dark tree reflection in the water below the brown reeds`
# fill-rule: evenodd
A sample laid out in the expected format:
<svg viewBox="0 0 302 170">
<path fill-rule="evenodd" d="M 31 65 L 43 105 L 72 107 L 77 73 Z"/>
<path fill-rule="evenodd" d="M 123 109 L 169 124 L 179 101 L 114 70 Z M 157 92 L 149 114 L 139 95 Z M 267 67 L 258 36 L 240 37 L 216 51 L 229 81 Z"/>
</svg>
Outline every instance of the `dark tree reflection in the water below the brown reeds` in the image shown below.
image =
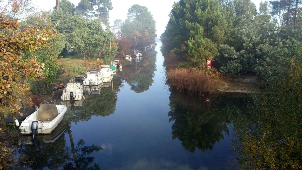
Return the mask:
<svg viewBox="0 0 302 170">
<path fill-rule="evenodd" d="M 179 139 L 189 152 L 196 148 L 205 152 L 212 150 L 214 144 L 223 140 L 223 132 L 229 135 L 227 124 L 230 117 L 226 106 L 232 103 L 242 104 L 241 97 L 211 95 L 192 96 L 172 91 L 170 95 L 169 121 L 172 125 L 172 138 Z"/>
</svg>

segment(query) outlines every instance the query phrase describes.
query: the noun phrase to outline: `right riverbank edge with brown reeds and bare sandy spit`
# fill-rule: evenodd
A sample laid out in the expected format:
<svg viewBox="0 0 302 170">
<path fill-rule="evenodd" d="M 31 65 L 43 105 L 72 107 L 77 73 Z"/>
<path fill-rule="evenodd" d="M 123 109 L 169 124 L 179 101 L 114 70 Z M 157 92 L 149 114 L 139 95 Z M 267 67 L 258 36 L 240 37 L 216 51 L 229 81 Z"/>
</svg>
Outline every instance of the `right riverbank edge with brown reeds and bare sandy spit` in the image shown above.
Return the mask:
<svg viewBox="0 0 302 170">
<path fill-rule="evenodd" d="M 212 92 L 252 93 L 260 86 L 257 75 L 220 75 L 217 71 L 198 68 L 171 69 L 166 72 L 167 84 L 178 92 L 205 94 Z"/>
</svg>

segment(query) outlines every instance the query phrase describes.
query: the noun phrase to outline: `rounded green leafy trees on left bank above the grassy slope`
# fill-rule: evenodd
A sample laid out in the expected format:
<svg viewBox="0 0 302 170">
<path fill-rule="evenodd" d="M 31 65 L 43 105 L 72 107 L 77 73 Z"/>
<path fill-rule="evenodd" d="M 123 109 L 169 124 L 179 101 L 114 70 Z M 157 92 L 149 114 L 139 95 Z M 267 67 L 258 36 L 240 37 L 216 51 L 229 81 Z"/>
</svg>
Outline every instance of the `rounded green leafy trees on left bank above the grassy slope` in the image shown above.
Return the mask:
<svg viewBox="0 0 302 170">
<path fill-rule="evenodd" d="M 114 34 L 109 30 L 103 30 L 100 20 L 85 21 L 82 15 L 72 15 L 62 11 L 53 11 L 51 14 L 53 23 L 65 44 L 66 52 L 84 53 L 84 58 L 103 58 L 105 63 L 110 63 L 110 39 L 114 41 Z M 111 53 L 117 53 L 117 46 L 111 44 Z"/>
</svg>

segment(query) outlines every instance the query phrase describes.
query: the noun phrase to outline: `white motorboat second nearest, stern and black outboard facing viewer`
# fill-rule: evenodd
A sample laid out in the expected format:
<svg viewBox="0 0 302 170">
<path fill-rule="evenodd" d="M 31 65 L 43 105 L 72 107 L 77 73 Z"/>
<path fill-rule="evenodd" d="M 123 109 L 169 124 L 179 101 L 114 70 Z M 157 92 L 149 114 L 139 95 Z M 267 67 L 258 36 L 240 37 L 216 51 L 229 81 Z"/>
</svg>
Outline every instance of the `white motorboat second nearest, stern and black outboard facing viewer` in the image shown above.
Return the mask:
<svg viewBox="0 0 302 170">
<path fill-rule="evenodd" d="M 83 85 L 80 82 L 69 82 L 64 86 L 61 100 L 74 101 L 82 100 L 83 98 Z"/>
</svg>

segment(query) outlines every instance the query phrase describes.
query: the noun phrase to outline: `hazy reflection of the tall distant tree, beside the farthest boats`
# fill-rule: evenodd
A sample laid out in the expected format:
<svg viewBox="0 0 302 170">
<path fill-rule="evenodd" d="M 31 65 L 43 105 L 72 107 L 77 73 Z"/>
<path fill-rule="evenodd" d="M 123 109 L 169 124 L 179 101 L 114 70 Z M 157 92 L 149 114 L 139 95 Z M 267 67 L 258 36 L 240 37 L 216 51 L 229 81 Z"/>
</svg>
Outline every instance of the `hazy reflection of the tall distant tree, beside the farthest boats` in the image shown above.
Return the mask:
<svg viewBox="0 0 302 170">
<path fill-rule="evenodd" d="M 123 79 L 131 86 L 131 90 L 142 93 L 152 85 L 156 70 L 156 55 L 156 51 L 145 51 L 141 62 L 134 61 L 131 65 L 124 66 Z"/>
</svg>

